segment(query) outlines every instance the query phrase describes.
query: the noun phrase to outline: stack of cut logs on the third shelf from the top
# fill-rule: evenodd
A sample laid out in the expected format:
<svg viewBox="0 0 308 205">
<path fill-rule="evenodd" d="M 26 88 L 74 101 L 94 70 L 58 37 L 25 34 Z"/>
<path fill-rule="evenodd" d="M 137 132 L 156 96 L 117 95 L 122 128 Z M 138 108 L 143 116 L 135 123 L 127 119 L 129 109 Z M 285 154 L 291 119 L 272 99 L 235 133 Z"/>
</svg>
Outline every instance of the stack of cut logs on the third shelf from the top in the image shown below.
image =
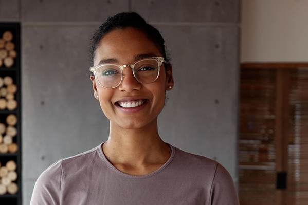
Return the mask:
<svg viewBox="0 0 308 205">
<path fill-rule="evenodd" d="M 6 118 L 6 124 L 0 123 L 0 153 L 16 153 L 18 151 L 17 143 L 13 142 L 13 138 L 17 135 L 17 117 L 10 114 Z"/>
</svg>

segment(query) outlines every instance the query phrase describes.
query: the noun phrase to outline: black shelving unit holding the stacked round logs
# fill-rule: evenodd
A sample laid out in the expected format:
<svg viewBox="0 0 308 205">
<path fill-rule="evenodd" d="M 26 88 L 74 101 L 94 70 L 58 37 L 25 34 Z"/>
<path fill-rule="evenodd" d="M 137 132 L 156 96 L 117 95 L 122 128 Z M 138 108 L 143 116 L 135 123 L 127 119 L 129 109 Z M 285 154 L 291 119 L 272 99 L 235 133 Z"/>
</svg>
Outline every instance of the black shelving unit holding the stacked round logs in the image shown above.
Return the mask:
<svg viewBox="0 0 308 205">
<path fill-rule="evenodd" d="M 13 137 L 13 142 L 18 145 L 18 150 L 16 153 L 0 153 L 1 165 L 5 165 L 8 161 L 13 160 L 17 165 L 17 175 L 18 178 L 14 183 L 18 185 L 18 192 L 16 194 L 6 193 L 0 195 L 1 205 L 21 205 L 22 204 L 22 138 L 21 138 L 21 33 L 20 33 L 20 23 L 14 22 L 0 22 L 0 39 L 3 33 L 10 31 L 13 34 L 14 50 L 17 53 L 17 57 L 14 58 L 14 64 L 11 67 L 6 67 L 4 64 L 0 66 L 0 77 L 4 78 L 10 76 L 13 79 L 13 83 L 17 86 L 17 92 L 14 94 L 14 100 L 17 101 L 17 108 L 14 110 L 3 109 L 0 110 L 0 123 L 6 123 L 6 118 L 8 115 L 14 114 L 17 117 L 17 124 L 15 128 L 17 129 L 17 135 Z"/>
</svg>

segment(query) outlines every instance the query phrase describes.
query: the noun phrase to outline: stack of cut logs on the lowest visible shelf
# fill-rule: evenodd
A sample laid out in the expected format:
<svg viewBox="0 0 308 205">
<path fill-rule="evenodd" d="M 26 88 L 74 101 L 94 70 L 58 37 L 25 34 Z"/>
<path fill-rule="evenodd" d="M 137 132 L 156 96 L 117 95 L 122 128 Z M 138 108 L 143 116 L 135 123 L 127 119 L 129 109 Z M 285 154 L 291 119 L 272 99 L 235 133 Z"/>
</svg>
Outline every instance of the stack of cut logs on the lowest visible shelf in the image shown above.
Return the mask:
<svg viewBox="0 0 308 205">
<path fill-rule="evenodd" d="M 6 193 L 16 194 L 18 185 L 14 182 L 18 178 L 16 162 L 8 161 L 5 165 L 0 164 L 0 195 Z"/>
</svg>

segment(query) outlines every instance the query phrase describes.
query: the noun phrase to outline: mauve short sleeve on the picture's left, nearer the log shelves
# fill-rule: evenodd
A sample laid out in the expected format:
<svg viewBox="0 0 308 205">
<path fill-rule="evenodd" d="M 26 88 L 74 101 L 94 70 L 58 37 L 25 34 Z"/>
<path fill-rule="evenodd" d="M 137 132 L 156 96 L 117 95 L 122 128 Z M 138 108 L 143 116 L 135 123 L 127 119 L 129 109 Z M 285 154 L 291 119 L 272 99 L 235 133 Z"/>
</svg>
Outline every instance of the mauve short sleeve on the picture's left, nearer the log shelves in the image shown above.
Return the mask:
<svg viewBox="0 0 308 205">
<path fill-rule="evenodd" d="M 61 177 L 61 161 L 58 161 L 35 182 L 30 205 L 60 205 Z"/>
</svg>

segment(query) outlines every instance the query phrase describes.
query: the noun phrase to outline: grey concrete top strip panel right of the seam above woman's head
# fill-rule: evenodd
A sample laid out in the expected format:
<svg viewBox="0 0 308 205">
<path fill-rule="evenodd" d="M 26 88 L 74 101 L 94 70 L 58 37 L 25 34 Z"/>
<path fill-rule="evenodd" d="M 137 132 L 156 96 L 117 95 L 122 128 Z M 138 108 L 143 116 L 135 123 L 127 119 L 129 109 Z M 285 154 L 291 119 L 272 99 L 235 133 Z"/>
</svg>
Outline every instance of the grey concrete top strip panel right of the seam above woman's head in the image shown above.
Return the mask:
<svg viewBox="0 0 308 205">
<path fill-rule="evenodd" d="M 132 0 L 132 9 L 155 22 L 239 22 L 240 1 Z M 172 8 L 172 9 L 171 9 Z"/>
</svg>

